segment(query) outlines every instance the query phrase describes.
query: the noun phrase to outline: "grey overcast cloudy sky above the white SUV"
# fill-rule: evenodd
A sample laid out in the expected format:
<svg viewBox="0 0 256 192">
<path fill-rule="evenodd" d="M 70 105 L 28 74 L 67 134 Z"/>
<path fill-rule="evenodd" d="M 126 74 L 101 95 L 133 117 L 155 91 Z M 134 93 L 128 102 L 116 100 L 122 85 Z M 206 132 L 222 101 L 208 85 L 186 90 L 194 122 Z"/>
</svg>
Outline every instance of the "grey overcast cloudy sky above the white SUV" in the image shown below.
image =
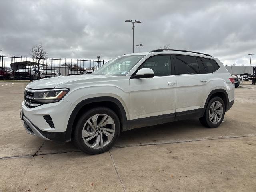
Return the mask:
<svg viewBox="0 0 256 192">
<path fill-rule="evenodd" d="M 110 59 L 170 44 L 249 65 L 256 54 L 256 1 L 1 0 L 0 54 L 30 56 L 42 43 L 50 58 Z M 138 52 L 138 47 L 134 47 Z M 256 65 L 256 55 L 252 56 Z"/>
</svg>

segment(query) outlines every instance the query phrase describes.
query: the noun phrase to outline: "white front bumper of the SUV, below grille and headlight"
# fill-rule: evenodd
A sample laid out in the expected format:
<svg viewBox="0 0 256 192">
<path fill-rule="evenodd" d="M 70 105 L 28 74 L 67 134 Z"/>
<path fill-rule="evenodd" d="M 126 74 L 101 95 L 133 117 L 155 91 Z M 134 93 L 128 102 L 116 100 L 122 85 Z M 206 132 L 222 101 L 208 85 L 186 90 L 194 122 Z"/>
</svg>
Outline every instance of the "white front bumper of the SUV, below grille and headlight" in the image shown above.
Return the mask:
<svg viewBox="0 0 256 192">
<path fill-rule="evenodd" d="M 66 142 L 70 138 L 66 137 L 66 129 L 71 112 L 75 105 L 60 100 L 56 103 L 43 104 L 34 108 L 28 108 L 22 102 L 23 125 L 29 134 L 38 136 L 45 140 L 56 142 Z M 46 122 L 44 116 L 49 115 L 54 124 L 54 128 Z"/>
</svg>

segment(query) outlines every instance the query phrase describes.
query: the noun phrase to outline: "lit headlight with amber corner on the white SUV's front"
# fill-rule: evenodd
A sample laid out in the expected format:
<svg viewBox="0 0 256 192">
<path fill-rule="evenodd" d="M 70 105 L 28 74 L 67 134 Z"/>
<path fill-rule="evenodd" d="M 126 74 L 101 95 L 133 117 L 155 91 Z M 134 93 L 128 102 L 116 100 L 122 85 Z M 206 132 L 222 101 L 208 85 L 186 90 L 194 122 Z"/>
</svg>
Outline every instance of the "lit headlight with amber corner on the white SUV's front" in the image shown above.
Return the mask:
<svg viewBox="0 0 256 192">
<path fill-rule="evenodd" d="M 69 89 L 49 89 L 49 90 L 35 90 L 33 100 L 42 103 L 54 103 L 60 101 Z"/>
</svg>

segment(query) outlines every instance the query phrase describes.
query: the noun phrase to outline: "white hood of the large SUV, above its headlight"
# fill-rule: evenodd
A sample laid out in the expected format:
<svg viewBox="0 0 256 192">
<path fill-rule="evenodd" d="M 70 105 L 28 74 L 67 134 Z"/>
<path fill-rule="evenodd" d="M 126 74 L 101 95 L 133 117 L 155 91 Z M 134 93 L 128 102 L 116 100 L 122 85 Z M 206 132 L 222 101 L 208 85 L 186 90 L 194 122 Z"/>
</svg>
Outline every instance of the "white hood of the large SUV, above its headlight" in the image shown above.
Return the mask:
<svg viewBox="0 0 256 192">
<path fill-rule="evenodd" d="M 33 81 L 30 84 L 28 84 L 27 87 L 30 89 L 50 89 L 50 88 L 55 88 L 56 86 L 63 83 L 65 83 L 66 85 L 68 82 L 75 82 L 75 81 L 90 82 L 90 81 L 94 81 L 96 79 L 102 79 L 102 78 L 110 78 L 110 77 L 104 76 L 104 75 L 91 75 L 91 74 L 59 76 L 59 77 L 51 77 L 51 78 L 45 78 L 45 79 Z"/>
</svg>

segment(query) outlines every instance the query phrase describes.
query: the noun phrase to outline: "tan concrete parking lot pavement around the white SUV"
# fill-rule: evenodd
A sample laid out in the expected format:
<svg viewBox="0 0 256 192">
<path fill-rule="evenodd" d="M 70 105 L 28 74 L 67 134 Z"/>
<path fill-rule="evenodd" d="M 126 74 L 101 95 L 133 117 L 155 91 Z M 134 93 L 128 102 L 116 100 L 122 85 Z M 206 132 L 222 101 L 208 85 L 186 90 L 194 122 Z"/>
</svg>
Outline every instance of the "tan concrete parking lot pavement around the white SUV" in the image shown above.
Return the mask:
<svg viewBox="0 0 256 192">
<path fill-rule="evenodd" d="M 218 128 L 198 119 L 139 128 L 92 156 L 26 133 L 25 87 L 0 82 L 0 191 L 256 191 L 256 89 L 236 89 Z"/>
</svg>

